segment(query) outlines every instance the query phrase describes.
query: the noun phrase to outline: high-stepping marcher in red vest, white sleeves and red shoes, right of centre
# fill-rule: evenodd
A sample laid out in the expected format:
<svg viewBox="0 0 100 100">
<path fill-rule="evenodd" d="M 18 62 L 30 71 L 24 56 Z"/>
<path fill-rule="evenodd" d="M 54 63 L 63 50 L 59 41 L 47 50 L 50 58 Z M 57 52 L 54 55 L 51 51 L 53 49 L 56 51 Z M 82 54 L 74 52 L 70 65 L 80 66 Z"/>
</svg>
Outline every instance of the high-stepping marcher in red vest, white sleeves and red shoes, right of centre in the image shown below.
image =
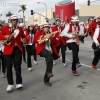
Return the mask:
<svg viewBox="0 0 100 100">
<path fill-rule="evenodd" d="M 66 37 L 66 42 L 67 42 L 67 46 L 69 48 L 69 50 L 72 50 L 72 56 L 73 56 L 73 62 L 72 62 L 72 73 L 75 76 L 78 76 L 79 74 L 77 73 L 77 63 L 79 62 L 79 57 L 78 57 L 78 52 L 79 52 L 79 46 L 76 44 L 76 38 L 77 36 L 72 34 L 75 32 L 79 31 L 79 26 L 77 26 L 77 22 L 78 22 L 78 17 L 77 16 L 72 16 L 71 22 L 72 24 L 67 24 L 63 33 L 61 34 L 61 36 Z"/>
</svg>

